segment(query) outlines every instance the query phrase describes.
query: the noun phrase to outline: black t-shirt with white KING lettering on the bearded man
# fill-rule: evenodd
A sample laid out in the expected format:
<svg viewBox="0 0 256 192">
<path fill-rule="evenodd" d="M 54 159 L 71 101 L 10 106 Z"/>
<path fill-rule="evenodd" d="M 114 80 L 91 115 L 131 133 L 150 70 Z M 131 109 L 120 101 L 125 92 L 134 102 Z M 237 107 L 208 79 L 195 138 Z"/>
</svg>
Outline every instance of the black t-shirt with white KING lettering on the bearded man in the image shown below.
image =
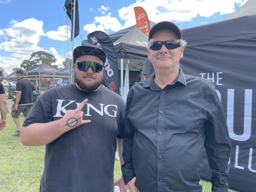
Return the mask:
<svg viewBox="0 0 256 192">
<path fill-rule="evenodd" d="M 46 145 L 40 192 L 113 192 L 117 137 L 124 125 L 124 100 L 100 87 L 83 92 L 75 84 L 46 91 L 35 102 L 23 126 L 58 120 L 85 99 L 84 120 Z M 24 128 L 26 129 L 26 128 Z"/>
</svg>

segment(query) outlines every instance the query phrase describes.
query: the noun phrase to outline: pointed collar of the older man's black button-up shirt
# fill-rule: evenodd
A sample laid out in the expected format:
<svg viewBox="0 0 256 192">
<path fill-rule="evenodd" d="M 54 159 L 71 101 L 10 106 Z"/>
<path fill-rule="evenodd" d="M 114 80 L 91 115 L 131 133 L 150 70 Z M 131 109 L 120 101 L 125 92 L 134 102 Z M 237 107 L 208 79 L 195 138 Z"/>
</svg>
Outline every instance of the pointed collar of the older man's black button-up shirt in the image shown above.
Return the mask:
<svg viewBox="0 0 256 192">
<path fill-rule="evenodd" d="M 154 82 L 154 78 L 155 78 L 156 74 L 155 72 L 153 72 L 148 79 L 145 80 L 144 85 L 142 86 L 143 88 L 145 87 L 155 87 L 154 85 L 156 85 L 156 83 Z M 186 76 L 183 73 L 182 69 L 179 67 L 179 75 L 178 77 L 173 81 L 173 83 L 169 84 L 169 85 L 174 85 L 176 82 L 180 82 L 183 85 L 187 86 L 187 81 L 186 81 Z"/>
</svg>

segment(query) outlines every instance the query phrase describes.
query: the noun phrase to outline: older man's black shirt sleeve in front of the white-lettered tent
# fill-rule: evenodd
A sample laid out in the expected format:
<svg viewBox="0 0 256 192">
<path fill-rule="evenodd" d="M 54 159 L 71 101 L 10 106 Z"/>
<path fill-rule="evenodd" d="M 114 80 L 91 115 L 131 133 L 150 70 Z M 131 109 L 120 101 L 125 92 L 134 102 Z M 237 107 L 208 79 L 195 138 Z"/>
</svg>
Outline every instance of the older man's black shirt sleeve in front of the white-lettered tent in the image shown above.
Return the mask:
<svg viewBox="0 0 256 192">
<path fill-rule="evenodd" d="M 210 115 L 205 127 L 204 147 L 212 171 L 212 192 L 228 192 L 227 175 L 231 144 L 223 107 L 213 85 L 210 85 Z"/>
</svg>

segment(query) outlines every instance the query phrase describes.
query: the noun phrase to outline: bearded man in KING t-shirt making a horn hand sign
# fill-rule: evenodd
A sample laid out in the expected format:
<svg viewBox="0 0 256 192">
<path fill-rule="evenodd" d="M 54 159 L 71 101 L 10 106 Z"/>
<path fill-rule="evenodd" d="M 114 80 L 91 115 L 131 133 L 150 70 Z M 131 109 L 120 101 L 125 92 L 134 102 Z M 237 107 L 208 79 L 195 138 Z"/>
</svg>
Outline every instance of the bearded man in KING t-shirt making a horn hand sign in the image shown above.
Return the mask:
<svg viewBox="0 0 256 192">
<path fill-rule="evenodd" d="M 102 49 L 78 46 L 73 56 L 76 83 L 38 98 L 24 121 L 21 142 L 46 145 L 40 192 L 111 192 L 117 140 L 122 154 L 125 103 L 100 86 L 106 61 Z M 122 177 L 115 185 L 121 192 L 128 189 Z"/>
</svg>

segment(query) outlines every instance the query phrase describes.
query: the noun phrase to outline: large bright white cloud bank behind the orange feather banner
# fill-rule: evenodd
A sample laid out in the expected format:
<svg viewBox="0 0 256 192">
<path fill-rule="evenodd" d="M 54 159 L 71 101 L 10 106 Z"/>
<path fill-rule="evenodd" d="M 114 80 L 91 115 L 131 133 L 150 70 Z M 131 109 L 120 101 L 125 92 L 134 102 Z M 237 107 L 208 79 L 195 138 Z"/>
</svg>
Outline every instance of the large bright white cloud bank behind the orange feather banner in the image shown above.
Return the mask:
<svg viewBox="0 0 256 192">
<path fill-rule="evenodd" d="M 169 20 L 173 22 L 192 21 L 194 18 L 211 17 L 215 13 L 220 15 L 235 11 L 235 4 L 242 6 L 247 0 L 137 0 L 136 3 L 118 10 L 119 17 L 124 21 L 124 25 L 119 22 L 117 17 L 111 17 L 111 13 L 105 16 L 95 17 L 91 24 L 84 26 L 85 31 L 119 31 L 123 28 L 135 25 L 134 7 L 143 7 L 149 20 L 160 22 Z M 154 6 L 152 6 L 154 5 Z M 221 5 L 221 6 L 220 6 Z M 98 11 L 105 14 L 109 7 L 101 6 Z M 102 29 L 104 27 L 104 30 Z M 152 27 L 152 26 L 151 26 Z"/>
</svg>

